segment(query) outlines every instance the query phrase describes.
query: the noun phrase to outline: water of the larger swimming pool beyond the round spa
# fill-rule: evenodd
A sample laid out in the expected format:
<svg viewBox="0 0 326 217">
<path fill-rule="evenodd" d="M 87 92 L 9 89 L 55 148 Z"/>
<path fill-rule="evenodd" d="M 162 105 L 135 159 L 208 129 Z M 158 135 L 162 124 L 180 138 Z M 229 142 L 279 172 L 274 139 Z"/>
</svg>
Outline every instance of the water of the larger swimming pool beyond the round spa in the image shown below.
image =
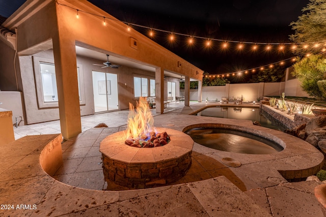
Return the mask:
<svg viewBox="0 0 326 217">
<path fill-rule="evenodd" d="M 208 117 L 222 117 L 240 120 L 258 121 L 262 127 L 284 131 L 287 128 L 268 114 L 262 114 L 259 108 L 249 107 L 208 107 L 195 115 Z"/>
</svg>

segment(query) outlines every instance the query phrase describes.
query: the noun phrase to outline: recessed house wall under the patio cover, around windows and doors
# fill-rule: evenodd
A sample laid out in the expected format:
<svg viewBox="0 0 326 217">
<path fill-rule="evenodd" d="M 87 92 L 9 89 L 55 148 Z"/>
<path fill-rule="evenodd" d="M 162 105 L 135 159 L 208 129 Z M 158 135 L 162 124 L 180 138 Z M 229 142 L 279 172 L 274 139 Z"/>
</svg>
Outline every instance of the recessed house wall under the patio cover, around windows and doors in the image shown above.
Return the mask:
<svg viewBox="0 0 326 217">
<path fill-rule="evenodd" d="M 34 54 L 33 56 L 43 57 L 53 60 L 53 51 L 47 50 Z M 33 56 L 21 56 L 21 71 L 22 82 L 24 87 L 25 96 L 25 107 L 26 107 L 26 122 L 28 124 L 38 123 L 49 120 L 59 119 L 59 109 L 58 108 L 40 108 L 38 105 L 37 91 L 36 88 L 40 88 L 41 84 L 37 84 L 37 79 L 35 79 L 35 68 L 33 67 Z M 103 61 L 98 59 L 93 59 L 84 56 L 76 57 L 77 65 L 83 66 L 83 77 L 85 94 L 85 103 L 80 105 L 80 115 L 90 115 L 94 113 L 94 100 L 93 100 L 93 83 L 92 83 L 92 71 L 97 72 L 108 72 L 118 75 L 118 92 L 119 92 L 119 106 L 120 109 L 128 109 L 129 102 L 135 102 L 133 95 L 133 75 L 146 76 L 148 78 L 155 79 L 155 73 L 144 71 L 140 69 L 134 69 L 126 66 L 121 66 L 119 69 L 103 69 L 99 66 L 94 66 L 93 64 L 102 64 Z M 171 79 L 173 80 L 173 79 Z M 179 86 L 178 86 L 179 88 Z"/>
</svg>

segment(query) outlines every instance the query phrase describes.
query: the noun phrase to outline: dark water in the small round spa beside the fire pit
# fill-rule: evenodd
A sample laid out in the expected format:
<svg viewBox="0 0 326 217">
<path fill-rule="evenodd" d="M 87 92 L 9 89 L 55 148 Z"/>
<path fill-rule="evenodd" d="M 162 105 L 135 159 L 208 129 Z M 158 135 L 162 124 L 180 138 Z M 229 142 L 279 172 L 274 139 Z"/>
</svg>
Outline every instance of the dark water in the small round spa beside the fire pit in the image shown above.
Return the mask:
<svg viewBox="0 0 326 217">
<path fill-rule="evenodd" d="M 244 131 L 203 127 L 193 128 L 184 133 L 206 147 L 221 151 L 248 154 L 271 154 L 283 150 L 276 142 Z"/>
</svg>

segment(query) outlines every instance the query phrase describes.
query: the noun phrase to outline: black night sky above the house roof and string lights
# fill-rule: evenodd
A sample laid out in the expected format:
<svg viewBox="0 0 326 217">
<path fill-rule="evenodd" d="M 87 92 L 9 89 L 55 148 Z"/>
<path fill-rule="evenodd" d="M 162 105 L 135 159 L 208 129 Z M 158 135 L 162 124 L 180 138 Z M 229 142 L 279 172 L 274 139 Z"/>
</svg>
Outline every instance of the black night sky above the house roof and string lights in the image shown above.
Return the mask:
<svg viewBox="0 0 326 217">
<path fill-rule="evenodd" d="M 24 1 L 0 0 L 0 15 L 8 17 Z M 294 32 L 289 24 L 302 15 L 302 9 L 309 0 L 228 0 L 180 1 L 180 0 L 90 0 L 92 4 L 113 15 L 121 21 L 166 30 L 173 33 L 204 37 L 209 39 L 230 40 L 253 43 L 289 43 L 289 35 Z M 207 2 L 207 3 L 205 3 Z M 12 7 L 14 6 L 14 7 Z M 148 29 L 131 25 L 148 36 Z M 189 46 L 188 37 L 176 36 L 171 43 L 168 33 L 155 32 L 152 39 L 185 60 L 210 74 L 237 72 L 262 65 L 268 65 L 294 56 L 290 46 L 283 51 L 266 45 L 228 43 L 193 38 Z M 290 61 L 286 62 L 290 65 Z"/>
</svg>

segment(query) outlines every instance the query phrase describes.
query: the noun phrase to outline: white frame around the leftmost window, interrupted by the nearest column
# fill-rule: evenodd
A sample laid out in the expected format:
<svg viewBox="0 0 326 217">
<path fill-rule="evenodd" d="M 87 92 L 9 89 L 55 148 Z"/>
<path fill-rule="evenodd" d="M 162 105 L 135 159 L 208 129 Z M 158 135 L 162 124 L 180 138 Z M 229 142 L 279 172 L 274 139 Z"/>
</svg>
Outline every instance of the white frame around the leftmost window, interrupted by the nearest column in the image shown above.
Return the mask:
<svg viewBox="0 0 326 217">
<path fill-rule="evenodd" d="M 37 93 L 37 102 L 39 108 L 58 108 L 58 101 L 53 102 L 44 102 L 43 96 L 43 86 L 42 86 L 42 76 L 40 63 L 53 64 L 54 60 L 50 58 L 44 58 L 39 56 L 33 56 L 33 65 L 34 65 L 34 76 L 35 76 L 35 87 Z M 79 69 L 79 70 L 78 70 Z M 79 73 L 78 73 L 79 71 Z M 77 64 L 77 76 L 78 77 L 78 92 L 79 92 L 79 105 L 85 105 L 85 88 L 84 88 L 84 70 L 82 64 Z"/>
</svg>

